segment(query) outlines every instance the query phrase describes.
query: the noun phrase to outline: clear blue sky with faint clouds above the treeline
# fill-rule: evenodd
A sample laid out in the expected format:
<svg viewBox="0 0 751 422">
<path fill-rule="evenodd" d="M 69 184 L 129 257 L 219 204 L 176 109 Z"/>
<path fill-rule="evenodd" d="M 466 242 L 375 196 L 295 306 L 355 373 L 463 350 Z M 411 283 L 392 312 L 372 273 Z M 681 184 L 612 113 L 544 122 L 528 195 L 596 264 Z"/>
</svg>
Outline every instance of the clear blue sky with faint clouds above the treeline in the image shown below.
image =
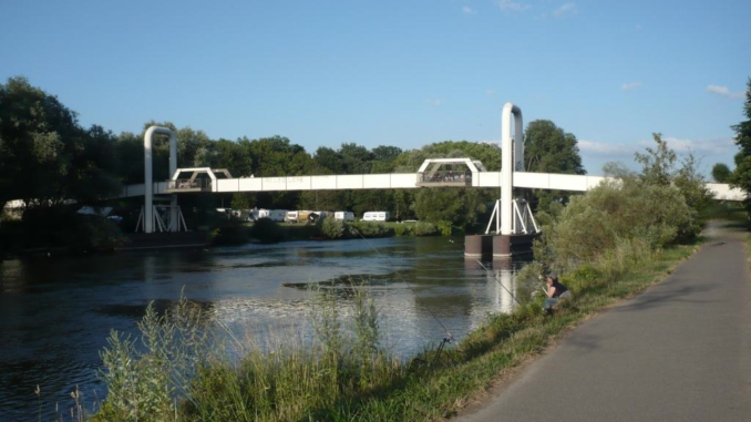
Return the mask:
<svg viewBox="0 0 751 422">
<path fill-rule="evenodd" d="M 150 120 L 309 152 L 497 141 L 501 109 L 574 133 L 585 166 L 652 132 L 708 172 L 751 76 L 751 1 L 0 2 L 0 79 L 84 125 Z"/>
</svg>

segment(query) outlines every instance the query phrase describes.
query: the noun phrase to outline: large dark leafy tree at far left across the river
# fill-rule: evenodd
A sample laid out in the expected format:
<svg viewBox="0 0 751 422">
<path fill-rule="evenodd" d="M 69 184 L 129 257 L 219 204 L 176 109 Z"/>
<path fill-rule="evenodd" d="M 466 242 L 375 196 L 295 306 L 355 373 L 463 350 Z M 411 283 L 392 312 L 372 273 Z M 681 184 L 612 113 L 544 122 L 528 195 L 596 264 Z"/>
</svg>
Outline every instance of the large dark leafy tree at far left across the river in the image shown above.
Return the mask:
<svg viewBox="0 0 751 422">
<path fill-rule="evenodd" d="M 119 189 L 111 133 L 84 130 L 75 112 L 27 79 L 0 84 L 0 204 L 107 197 Z"/>
</svg>

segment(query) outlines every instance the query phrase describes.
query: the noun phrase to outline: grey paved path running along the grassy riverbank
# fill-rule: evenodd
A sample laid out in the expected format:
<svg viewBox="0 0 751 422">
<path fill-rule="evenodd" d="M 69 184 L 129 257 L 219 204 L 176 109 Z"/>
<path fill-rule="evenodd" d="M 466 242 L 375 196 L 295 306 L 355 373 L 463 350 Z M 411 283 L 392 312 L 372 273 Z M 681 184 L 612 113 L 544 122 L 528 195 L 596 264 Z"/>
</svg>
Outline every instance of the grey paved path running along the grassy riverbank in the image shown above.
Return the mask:
<svg viewBox="0 0 751 422">
<path fill-rule="evenodd" d="M 744 240 L 710 236 L 665 281 L 583 323 L 456 421 L 751 421 Z"/>
</svg>

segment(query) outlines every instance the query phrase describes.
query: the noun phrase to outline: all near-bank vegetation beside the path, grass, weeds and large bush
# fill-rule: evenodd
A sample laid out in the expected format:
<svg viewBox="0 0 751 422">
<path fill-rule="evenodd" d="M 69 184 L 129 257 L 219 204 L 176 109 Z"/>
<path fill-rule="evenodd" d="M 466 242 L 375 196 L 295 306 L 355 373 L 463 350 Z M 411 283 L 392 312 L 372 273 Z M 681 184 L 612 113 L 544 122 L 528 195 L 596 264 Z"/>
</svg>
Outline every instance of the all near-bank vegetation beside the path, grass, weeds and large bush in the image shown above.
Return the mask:
<svg viewBox="0 0 751 422">
<path fill-rule="evenodd" d="M 686 192 L 700 189 L 701 177 L 693 173 L 683 181 L 688 183 L 675 183 L 691 172 L 686 163 L 676 171 L 675 156 L 666 154 L 659 135 L 656 142 L 658 147 L 644 156 L 642 174 L 619 171 L 616 179 L 573 197 L 568 206 L 541 214 L 546 230 L 535 246 L 536 261 L 517 275 L 519 306 L 510 315 L 488 316 L 443 353 L 429 348 L 409 360 L 394 359 L 383 344 L 367 284 L 316 292 L 312 338 L 281 333 L 264 342 L 236 336 L 228 343 L 216 341 L 208 326 L 218 321 L 182 299 L 162 316 L 148 308 L 138 326 L 143 344 L 112 333 L 102 353 L 109 395 L 92 419 L 451 416 L 504 371 L 539 353 L 580 319 L 661 279 L 696 249 L 699 209 L 687 203 Z M 658 177 L 662 175 L 667 178 Z M 707 192 L 702 195 L 709 198 Z M 553 318 L 543 316 L 543 297 L 534 295 L 537 276 L 549 269 L 560 271 L 575 292 Z M 341 295 L 351 296 L 351 312 L 342 312 Z"/>
</svg>

